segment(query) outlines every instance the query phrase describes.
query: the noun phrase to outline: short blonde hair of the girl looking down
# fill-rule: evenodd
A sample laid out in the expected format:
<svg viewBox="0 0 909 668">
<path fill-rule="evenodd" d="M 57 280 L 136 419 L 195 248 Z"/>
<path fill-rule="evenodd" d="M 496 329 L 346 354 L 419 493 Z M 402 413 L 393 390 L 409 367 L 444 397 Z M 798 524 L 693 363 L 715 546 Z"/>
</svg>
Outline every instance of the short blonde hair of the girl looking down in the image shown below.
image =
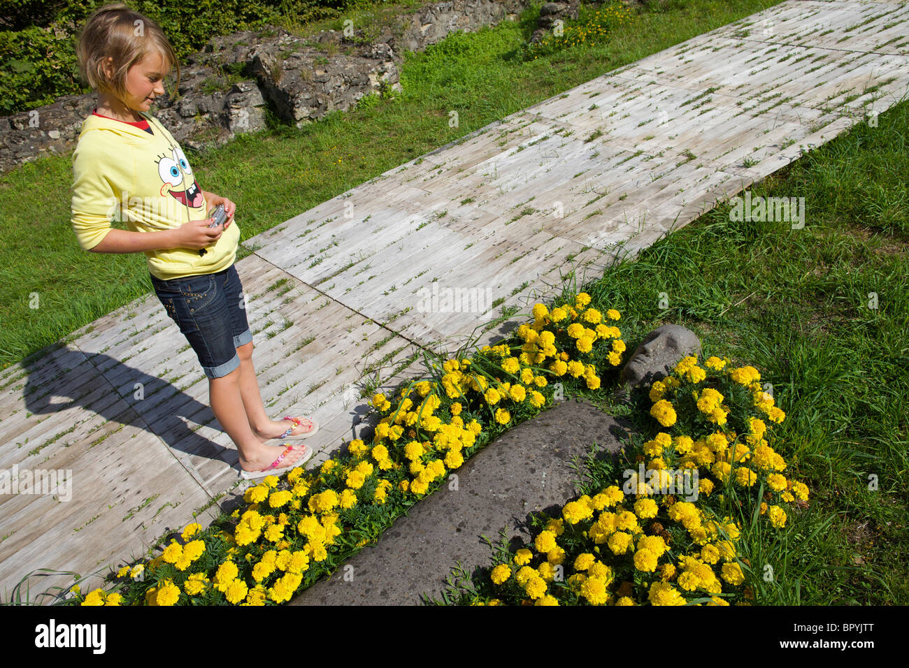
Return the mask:
<svg viewBox="0 0 909 668">
<path fill-rule="evenodd" d="M 176 85 L 180 85 L 180 64 L 161 26 L 122 3 L 95 10 L 75 45 L 79 71 L 88 85 L 98 93 L 113 94 L 121 100 L 126 96 L 129 68 L 154 51 L 161 54 L 168 70 L 176 67 Z M 108 57 L 114 61 L 113 76 L 106 73 Z"/>
</svg>

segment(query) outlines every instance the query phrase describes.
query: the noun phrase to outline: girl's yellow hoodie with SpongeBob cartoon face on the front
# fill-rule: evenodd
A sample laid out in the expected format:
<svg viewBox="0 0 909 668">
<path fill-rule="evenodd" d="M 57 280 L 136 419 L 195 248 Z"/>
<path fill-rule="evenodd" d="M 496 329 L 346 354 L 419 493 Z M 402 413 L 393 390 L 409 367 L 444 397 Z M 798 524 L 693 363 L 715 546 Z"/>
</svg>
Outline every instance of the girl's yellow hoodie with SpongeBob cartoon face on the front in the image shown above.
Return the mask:
<svg viewBox="0 0 909 668">
<path fill-rule="evenodd" d="M 156 232 L 208 217 L 208 204 L 173 136 L 150 114 L 146 130 L 113 118 L 89 115 L 73 154 L 72 223 L 79 246 L 100 244 L 111 222 L 131 232 Z M 200 255 L 196 248 L 145 251 L 148 271 L 163 281 L 214 274 L 234 264 L 236 223 Z"/>
</svg>

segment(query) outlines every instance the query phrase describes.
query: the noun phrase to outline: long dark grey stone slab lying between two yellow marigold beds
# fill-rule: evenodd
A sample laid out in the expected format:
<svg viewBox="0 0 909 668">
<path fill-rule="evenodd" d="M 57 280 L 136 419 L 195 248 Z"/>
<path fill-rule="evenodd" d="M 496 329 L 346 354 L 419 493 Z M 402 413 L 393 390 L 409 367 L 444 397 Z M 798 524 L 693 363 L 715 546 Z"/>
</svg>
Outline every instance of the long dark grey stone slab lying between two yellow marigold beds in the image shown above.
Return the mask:
<svg viewBox="0 0 909 668">
<path fill-rule="evenodd" d="M 572 468 L 590 454 L 619 452 L 630 425 L 592 404 L 569 400 L 519 424 L 487 444 L 457 474 L 457 490 L 443 485 L 383 533 L 313 584 L 293 605 L 417 605 L 439 598 L 455 563 L 465 569 L 492 562 L 504 529 L 509 541 L 530 536 L 530 513 L 560 514 L 576 494 Z M 584 471 L 585 467 L 580 466 Z M 352 577 L 346 565 L 353 566 Z"/>
</svg>

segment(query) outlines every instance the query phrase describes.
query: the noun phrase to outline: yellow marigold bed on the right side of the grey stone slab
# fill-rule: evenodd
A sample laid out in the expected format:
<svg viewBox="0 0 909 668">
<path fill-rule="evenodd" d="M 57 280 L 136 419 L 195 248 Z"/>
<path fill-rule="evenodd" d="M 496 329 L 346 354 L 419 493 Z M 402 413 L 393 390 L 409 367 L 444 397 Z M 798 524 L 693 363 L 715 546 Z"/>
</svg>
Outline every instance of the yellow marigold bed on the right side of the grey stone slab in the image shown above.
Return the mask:
<svg viewBox="0 0 909 668">
<path fill-rule="evenodd" d="M 479 587 L 459 587 L 461 601 L 754 601 L 747 580 L 768 572 L 740 550 L 744 523 L 756 526 L 755 535 L 784 531 L 787 510 L 807 503 L 808 488 L 782 473 L 773 425 L 785 415 L 763 391 L 757 370 L 731 368 L 717 357 L 704 367 L 685 357 L 651 386 L 656 424 L 648 440 L 625 453 L 636 470 L 566 503 L 561 517 L 537 515 L 542 530 L 533 543 L 499 549 Z"/>
</svg>

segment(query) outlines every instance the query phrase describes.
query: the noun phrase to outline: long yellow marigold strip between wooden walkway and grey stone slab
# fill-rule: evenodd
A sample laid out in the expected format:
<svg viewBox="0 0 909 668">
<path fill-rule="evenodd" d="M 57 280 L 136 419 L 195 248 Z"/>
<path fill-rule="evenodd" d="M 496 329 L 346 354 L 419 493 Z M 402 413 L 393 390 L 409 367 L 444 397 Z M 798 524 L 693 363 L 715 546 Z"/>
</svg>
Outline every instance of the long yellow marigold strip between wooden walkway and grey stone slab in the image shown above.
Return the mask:
<svg viewBox="0 0 909 668">
<path fill-rule="evenodd" d="M 607 324 L 620 314 L 589 304 L 584 293 L 552 312 L 535 304 L 533 321 L 509 341 L 428 362 L 430 378 L 407 384 L 394 402 L 373 397 L 381 419 L 371 444 L 357 439 L 318 470 L 266 477 L 246 490 L 244 509 L 205 530 L 190 524 L 154 559 L 121 568 L 115 591 L 74 589 L 72 602 L 286 603 L 375 541 L 496 435 L 552 404 L 553 379 L 599 388 L 625 344 Z"/>
</svg>

